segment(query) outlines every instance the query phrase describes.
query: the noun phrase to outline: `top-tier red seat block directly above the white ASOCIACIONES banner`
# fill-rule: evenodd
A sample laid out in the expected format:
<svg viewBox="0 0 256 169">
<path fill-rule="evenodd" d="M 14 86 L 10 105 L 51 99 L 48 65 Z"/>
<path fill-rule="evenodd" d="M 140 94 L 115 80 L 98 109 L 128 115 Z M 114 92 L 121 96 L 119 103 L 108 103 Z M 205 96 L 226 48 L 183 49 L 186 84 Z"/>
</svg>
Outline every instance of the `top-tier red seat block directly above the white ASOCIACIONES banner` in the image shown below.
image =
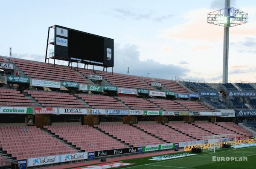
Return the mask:
<svg viewBox="0 0 256 169">
<path fill-rule="evenodd" d="M 97 71 L 97 74 L 100 74 L 105 78 L 105 80 L 108 80 L 109 83 L 111 83 L 113 86 L 118 86 L 122 88 L 130 88 L 130 89 L 150 89 L 154 90 L 151 86 L 149 86 L 147 83 L 145 83 L 143 80 L 141 80 L 137 76 L 131 76 L 131 75 L 125 75 L 125 74 L 118 74 L 118 73 L 110 73 L 110 72 L 102 72 Z"/>
</svg>

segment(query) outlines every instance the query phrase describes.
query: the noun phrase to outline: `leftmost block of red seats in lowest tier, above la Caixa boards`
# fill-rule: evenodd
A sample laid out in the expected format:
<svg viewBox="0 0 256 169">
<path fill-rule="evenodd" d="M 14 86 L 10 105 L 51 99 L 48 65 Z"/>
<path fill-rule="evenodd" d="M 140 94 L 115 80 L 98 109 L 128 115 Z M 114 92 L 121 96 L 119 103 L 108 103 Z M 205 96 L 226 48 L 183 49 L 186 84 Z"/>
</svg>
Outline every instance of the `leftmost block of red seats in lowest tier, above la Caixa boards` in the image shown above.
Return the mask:
<svg viewBox="0 0 256 169">
<path fill-rule="evenodd" d="M 36 126 L 0 127 L 0 147 L 17 159 L 77 152 Z"/>
</svg>

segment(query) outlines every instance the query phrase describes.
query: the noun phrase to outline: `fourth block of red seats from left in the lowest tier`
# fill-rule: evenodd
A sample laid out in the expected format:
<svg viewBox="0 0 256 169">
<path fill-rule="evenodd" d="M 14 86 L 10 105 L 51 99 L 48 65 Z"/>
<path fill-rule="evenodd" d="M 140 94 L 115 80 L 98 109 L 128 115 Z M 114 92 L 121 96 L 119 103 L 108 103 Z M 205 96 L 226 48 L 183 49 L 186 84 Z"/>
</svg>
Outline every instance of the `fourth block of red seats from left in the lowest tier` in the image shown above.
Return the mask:
<svg viewBox="0 0 256 169">
<path fill-rule="evenodd" d="M 180 132 L 170 129 L 168 126 L 162 124 L 134 124 L 134 126 L 158 136 L 171 143 L 179 143 L 191 140 L 191 137 L 181 134 Z"/>
</svg>

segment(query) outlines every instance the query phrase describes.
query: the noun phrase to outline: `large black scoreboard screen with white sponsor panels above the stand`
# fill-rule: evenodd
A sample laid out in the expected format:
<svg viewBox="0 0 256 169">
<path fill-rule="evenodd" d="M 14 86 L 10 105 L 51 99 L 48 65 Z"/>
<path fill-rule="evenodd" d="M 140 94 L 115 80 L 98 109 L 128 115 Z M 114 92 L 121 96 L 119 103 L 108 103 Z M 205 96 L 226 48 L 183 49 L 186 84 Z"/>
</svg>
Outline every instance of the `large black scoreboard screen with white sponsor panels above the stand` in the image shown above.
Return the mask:
<svg viewBox="0 0 256 169">
<path fill-rule="evenodd" d="M 54 57 L 113 67 L 113 39 L 55 25 Z"/>
</svg>

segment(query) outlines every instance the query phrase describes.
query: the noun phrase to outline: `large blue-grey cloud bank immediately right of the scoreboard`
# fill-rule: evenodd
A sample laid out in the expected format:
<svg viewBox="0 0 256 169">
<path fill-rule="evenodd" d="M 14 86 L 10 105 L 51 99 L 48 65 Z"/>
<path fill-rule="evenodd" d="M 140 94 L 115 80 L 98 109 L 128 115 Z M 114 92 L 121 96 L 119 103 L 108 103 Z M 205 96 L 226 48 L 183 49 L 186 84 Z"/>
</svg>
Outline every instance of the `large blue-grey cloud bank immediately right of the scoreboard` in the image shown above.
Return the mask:
<svg viewBox="0 0 256 169">
<path fill-rule="evenodd" d="M 190 72 L 189 69 L 173 64 L 161 64 L 154 60 L 140 60 L 140 52 L 138 46 L 126 44 L 120 47 L 115 44 L 115 62 L 114 72 L 127 74 L 129 67 L 129 74 L 147 76 L 154 78 L 172 79 L 172 76 L 180 75 L 186 76 Z"/>
</svg>

